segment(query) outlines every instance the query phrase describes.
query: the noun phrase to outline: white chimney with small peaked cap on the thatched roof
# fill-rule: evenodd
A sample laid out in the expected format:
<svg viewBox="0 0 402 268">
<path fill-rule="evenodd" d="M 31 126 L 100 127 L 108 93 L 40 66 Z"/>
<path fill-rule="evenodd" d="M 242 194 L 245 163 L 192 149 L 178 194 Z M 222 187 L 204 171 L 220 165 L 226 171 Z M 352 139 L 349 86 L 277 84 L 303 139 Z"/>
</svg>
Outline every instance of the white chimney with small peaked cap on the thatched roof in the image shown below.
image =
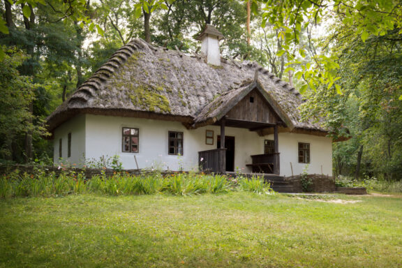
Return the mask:
<svg viewBox="0 0 402 268">
<path fill-rule="evenodd" d="M 211 24 L 205 25 L 204 31 L 198 36 L 197 40 L 201 43 L 201 52 L 207 56 L 207 64 L 221 66 L 221 52 L 219 51 L 219 41 L 225 38 Z"/>
</svg>

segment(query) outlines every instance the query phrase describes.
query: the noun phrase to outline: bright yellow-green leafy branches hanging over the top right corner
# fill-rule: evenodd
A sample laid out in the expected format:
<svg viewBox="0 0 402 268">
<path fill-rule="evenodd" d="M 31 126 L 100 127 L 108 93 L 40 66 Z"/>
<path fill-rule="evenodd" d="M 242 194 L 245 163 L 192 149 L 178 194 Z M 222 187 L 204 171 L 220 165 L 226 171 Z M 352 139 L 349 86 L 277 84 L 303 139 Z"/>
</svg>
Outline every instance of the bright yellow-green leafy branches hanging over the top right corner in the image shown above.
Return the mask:
<svg viewBox="0 0 402 268">
<path fill-rule="evenodd" d="M 336 74 L 339 65 L 335 54 L 317 54 L 313 47 L 306 47 L 300 43 L 303 29 L 308 29 L 312 24 L 320 24 L 327 16 L 336 14 L 337 20 L 345 29 L 351 29 L 351 36 L 357 36 L 364 42 L 369 36 L 384 36 L 388 31 L 402 26 L 400 19 L 402 6 L 399 1 L 339 1 L 332 0 L 315 3 L 308 0 L 284 0 L 262 1 L 262 27 L 269 22 L 279 30 L 278 36 L 285 42 L 283 51 L 293 66 L 299 66 L 299 77 L 306 82 L 301 91 L 310 87 L 313 91 L 320 86 L 331 89 L 340 77 Z M 369 19 L 368 19 L 369 18 Z M 401 31 L 399 31 L 401 34 Z M 292 45 L 300 45 L 298 53 L 306 58 L 306 52 L 310 50 L 308 61 L 297 61 L 296 52 L 292 51 Z M 325 47 L 325 45 L 323 46 Z M 308 48 L 308 50 L 307 50 Z M 336 90 L 341 92 L 341 85 Z"/>
</svg>

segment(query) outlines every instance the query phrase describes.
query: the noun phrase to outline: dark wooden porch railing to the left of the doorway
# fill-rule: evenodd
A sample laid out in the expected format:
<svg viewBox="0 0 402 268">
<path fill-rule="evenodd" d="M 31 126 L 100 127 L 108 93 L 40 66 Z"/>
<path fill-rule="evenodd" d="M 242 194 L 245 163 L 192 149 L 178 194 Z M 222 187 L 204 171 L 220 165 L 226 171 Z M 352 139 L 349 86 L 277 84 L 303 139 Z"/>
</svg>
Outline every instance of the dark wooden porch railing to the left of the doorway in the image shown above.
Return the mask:
<svg viewBox="0 0 402 268">
<path fill-rule="evenodd" d="M 226 171 L 226 149 L 199 151 L 198 165 L 202 172 L 224 173 Z"/>
</svg>

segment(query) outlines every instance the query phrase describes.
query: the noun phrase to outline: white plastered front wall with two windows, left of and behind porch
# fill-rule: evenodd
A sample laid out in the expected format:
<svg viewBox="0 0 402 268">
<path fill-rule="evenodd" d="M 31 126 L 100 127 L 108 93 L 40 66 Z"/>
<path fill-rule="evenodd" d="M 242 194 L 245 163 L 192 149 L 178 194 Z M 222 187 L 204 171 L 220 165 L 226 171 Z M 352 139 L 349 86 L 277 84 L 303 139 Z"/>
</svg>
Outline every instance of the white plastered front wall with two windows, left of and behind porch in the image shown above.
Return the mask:
<svg viewBox="0 0 402 268">
<path fill-rule="evenodd" d="M 121 151 L 122 128 L 139 128 L 140 149 L 138 153 Z M 214 144 L 205 144 L 205 131 L 214 131 Z M 168 154 L 168 132 L 184 133 L 184 154 L 173 156 Z M 216 149 L 219 126 L 207 126 L 195 130 L 186 129 L 181 123 L 131 117 L 106 117 L 87 115 L 86 122 L 87 159 L 99 160 L 101 156 L 118 155 L 125 169 L 135 169 L 134 156 L 139 168 L 158 168 L 161 170 L 198 170 L 198 151 Z M 255 132 L 242 128 L 225 128 L 226 136 L 234 136 L 234 167 L 244 172 L 251 163 L 251 155 L 262 154 L 264 139 Z"/>
</svg>

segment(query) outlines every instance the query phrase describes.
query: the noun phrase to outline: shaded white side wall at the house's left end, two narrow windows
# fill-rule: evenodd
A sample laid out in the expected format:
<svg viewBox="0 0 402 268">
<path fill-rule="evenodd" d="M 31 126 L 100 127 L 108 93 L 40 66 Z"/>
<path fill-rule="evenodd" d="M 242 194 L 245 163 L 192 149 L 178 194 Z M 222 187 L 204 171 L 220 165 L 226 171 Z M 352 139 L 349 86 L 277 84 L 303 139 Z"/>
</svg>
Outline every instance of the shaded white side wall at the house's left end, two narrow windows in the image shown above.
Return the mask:
<svg viewBox="0 0 402 268">
<path fill-rule="evenodd" d="M 71 156 L 68 157 L 68 133 L 71 133 Z M 59 159 L 59 141 L 61 139 L 61 159 Z M 85 157 L 85 115 L 81 114 L 64 122 L 54 130 L 53 161 L 57 165 L 76 164 L 80 166 Z"/>
</svg>

